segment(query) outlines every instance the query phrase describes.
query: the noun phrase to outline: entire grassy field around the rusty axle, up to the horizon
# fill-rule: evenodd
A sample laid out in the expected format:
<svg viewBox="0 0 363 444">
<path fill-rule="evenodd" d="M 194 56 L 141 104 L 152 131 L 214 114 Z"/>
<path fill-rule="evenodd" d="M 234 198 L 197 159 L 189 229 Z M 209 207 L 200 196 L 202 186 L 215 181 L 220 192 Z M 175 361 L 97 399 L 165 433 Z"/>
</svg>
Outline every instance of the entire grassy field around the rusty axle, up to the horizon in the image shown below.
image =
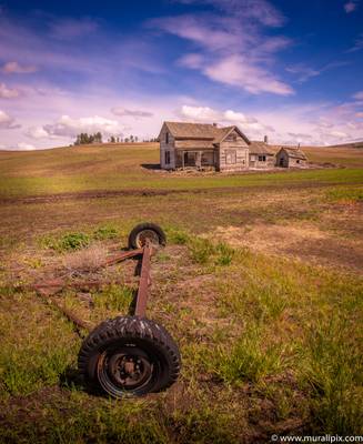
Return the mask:
<svg viewBox="0 0 363 444">
<path fill-rule="evenodd" d="M 337 168 L 168 173 L 155 144 L 0 152 L 0 442 L 362 434 L 363 150 L 305 151 Z M 127 314 L 135 264 L 89 264 L 145 220 L 169 239 L 148 316 L 179 343 L 182 375 L 158 395 L 93 396 L 73 325 L 14 286 L 121 279 L 58 297 L 94 323 Z"/>
</svg>

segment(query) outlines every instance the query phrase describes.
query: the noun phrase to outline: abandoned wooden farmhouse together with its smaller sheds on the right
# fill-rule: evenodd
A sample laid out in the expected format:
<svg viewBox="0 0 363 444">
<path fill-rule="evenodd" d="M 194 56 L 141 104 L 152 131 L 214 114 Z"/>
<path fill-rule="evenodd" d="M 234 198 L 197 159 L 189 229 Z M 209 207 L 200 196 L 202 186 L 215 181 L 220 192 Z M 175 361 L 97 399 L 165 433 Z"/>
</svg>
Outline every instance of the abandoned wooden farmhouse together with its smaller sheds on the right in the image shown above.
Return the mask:
<svg viewBox="0 0 363 444">
<path fill-rule="evenodd" d="M 216 171 L 303 168 L 305 154 L 281 148 L 278 154 L 264 142 L 250 141 L 235 125 L 164 122 L 160 134 L 160 165 L 164 170 L 211 168 Z"/>
</svg>

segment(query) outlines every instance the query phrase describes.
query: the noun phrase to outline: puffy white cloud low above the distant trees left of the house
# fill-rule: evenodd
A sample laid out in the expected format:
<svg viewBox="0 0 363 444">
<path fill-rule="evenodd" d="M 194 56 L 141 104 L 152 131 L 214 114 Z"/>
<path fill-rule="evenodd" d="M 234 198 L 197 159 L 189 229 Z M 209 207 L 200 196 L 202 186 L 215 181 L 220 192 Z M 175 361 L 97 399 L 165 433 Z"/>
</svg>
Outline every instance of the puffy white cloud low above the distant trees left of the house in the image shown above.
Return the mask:
<svg viewBox="0 0 363 444">
<path fill-rule="evenodd" d="M 90 118 L 72 119 L 69 115 L 62 115 L 56 123 L 43 125 L 44 131 L 51 135 L 74 138 L 80 132 L 98 132 L 103 134 L 119 134 L 121 128 L 119 122 L 94 115 Z"/>
</svg>

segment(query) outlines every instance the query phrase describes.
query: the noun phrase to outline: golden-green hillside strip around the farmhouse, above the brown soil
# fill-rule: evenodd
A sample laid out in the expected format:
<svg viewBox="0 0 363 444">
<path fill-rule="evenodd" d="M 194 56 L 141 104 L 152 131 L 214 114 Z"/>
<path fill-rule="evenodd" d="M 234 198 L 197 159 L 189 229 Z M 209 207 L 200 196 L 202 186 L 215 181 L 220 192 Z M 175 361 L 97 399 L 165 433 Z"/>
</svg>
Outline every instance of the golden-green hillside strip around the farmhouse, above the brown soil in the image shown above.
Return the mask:
<svg viewBox="0 0 363 444">
<path fill-rule="evenodd" d="M 344 148 L 306 148 L 317 163 L 349 167 L 351 171 L 321 170 L 244 174 L 171 174 L 158 170 L 157 143 L 80 145 L 44 151 L 0 152 L 0 195 L 37 195 L 99 190 L 190 190 L 259 186 L 301 181 L 360 180 L 363 151 Z M 355 170 L 354 170 L 355 169 Z M 298 175 L 296 175 L 298 174 Z"/>
</svg>

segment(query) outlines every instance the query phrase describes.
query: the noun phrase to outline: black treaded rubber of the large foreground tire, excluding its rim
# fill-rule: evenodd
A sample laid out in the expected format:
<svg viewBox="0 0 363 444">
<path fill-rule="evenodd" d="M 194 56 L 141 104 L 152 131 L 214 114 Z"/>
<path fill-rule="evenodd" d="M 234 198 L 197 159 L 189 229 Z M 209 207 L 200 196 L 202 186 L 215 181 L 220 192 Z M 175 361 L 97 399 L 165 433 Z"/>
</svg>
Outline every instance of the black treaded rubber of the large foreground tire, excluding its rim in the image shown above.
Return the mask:
<svg viewBox="0 0 363 444">
<path fill-rule="evenodd" d="M 158 361 L 159 374 L 145 386 L 114 394 L 107 392 L 100 384 L 98 361 L 108 347 L 113 347 L 118 343 L 121 346 L 124 340 L 135 341 L 139 347 L 144 347 L 149 354 L 153 353 L 153 357 Z M 181 357 L 178 345 L 162 325 L 145 317 L 118 316 L 102 322 L 85 337 L 79 352 L 78 367 L 87 385 L 98 392 L 112 397 L 141 396 L 171 386 L 179 376 Z"/>
</svg>

